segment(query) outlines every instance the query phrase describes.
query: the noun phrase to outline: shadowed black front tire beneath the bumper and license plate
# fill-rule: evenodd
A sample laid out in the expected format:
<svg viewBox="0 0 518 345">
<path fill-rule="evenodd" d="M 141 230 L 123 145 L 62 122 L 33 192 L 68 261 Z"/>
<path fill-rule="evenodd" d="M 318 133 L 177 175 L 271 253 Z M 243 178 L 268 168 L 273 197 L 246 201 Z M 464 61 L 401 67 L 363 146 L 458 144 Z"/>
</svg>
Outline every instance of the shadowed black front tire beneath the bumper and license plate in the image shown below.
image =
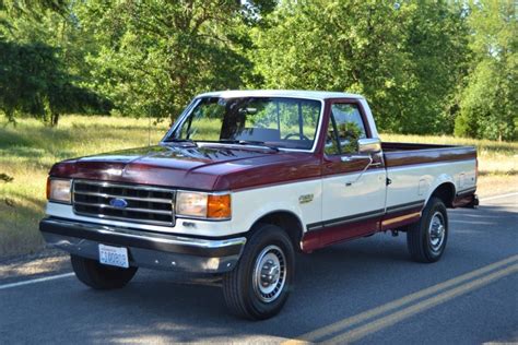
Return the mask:
<svg viewBox="0 0 518 345">
<path fill-rule="evenodd" d="M 113 267 L 74 254 L 70 255 L 70 260 L 78 279 L 95 289 L 121 288 L 137 273 L 137 267 Z"/>
</svg>

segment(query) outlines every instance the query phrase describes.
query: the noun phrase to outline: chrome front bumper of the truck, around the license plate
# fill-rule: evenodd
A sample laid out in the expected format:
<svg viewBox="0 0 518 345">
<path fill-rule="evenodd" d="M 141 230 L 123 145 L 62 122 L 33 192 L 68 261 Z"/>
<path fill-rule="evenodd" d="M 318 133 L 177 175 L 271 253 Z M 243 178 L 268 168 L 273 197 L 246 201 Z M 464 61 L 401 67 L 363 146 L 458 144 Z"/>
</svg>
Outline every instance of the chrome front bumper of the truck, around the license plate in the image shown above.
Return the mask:
<svg viewBox="0 0 518 345">
<path fill-rule="evenodd" d="M 50 246 L 98 260 L 98 245 L 126 247 L 130 265 L 195 273 L 223 273 L 236 265 L 246 238 L 211 240 L 48 217 L 39 230 Z"/>
</svg>

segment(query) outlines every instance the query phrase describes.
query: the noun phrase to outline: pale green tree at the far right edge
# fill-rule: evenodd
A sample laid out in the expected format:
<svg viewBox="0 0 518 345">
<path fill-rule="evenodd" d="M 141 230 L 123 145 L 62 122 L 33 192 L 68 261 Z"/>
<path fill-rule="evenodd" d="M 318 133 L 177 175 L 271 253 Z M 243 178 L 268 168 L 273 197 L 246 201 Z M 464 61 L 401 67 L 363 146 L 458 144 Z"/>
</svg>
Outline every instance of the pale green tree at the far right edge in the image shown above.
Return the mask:
<svg viewBox="0 0 518 345">
<path fill-rule="evenodd" d="M 469 17 L 473 61 L 455 134 L 518 139 L 518 25 L 513 1 L 476 1 Z"/>
</svg>

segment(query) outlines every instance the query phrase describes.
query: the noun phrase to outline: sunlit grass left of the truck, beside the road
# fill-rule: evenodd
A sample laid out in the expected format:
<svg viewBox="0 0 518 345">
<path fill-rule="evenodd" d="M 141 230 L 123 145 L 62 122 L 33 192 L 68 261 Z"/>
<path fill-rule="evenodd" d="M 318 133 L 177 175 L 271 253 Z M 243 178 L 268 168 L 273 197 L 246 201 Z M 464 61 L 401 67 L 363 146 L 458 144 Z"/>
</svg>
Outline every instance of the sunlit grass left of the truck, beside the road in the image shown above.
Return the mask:
<svg viewBox="0 0 518 345">
<path fill-rule="evenodd" d="M 0 117 L 0 255 L 26 253 L 42 248 L 37 224 L 44 215 L 45 181 L 58 160 L 145 146 L 146 119 L 68 116 L 50 129 L 32 119 L 1 127 Z M 167 131 L 166 124 L 153 126 L 151 142 Z"/>
</svg>

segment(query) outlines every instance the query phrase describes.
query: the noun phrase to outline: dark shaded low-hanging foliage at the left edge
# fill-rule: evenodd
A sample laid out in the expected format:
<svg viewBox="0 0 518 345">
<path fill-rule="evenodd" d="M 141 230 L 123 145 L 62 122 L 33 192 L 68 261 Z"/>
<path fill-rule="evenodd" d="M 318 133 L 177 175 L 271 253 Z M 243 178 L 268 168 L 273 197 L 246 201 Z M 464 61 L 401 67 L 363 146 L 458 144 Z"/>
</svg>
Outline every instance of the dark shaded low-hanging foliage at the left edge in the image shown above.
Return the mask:
<svg viewBox="0 0 518 345">
<path fill-rule="evenodd" d="M 43 44 L 0 40 L 0 110 L 15 122 L 16 112 L 31 114 L 56 126 L 60 114 L 106 112 L 109 104 L 78 87 L 56 56 Z"/>
</svg>

